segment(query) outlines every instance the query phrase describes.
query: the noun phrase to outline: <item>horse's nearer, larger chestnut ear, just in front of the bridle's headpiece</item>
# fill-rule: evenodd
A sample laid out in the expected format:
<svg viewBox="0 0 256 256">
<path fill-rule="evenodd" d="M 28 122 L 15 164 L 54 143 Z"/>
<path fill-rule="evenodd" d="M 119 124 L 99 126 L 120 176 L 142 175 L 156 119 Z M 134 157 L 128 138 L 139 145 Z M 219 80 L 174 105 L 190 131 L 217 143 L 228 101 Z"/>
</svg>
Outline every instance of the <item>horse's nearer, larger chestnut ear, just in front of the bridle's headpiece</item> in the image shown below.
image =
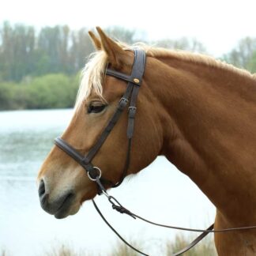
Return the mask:
<svg viewBox="0 0 256 256">
<path fill-rule="evenodd" d="M 100 27 L 96 27 L 96 29 L 100 35 L 101 46 L 107 53 L 108 62 L 111 63 L 111 66 L 118 69 L 124 64 L 128 64 L 129 55 L 127 52 L 118 43 L 106 36 Z"/>
</svg>

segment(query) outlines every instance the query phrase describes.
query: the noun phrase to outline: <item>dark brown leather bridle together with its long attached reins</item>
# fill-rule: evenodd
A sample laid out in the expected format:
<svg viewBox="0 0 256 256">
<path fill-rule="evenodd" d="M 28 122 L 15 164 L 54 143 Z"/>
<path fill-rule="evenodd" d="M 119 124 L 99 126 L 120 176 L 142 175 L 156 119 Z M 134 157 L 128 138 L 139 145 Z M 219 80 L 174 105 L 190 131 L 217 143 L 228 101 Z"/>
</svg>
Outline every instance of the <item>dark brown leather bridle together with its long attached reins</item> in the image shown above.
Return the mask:
<svg viewBox="0 0 256 256">
<path fill-rule="evenodd" d="M 107 184 L 107 185 L 110 185 L 111 187 L 119 186 L 122 183 L 123 179 L 126 177 L 127 170 L 130 166 L 130 150 L 131 150 L 132 137 L 134 135 L 134 119 L 135 119 L 135 114 L 137 110 L 136 108 L 137 95 L 138 95 L 139 88 L 141 86 L 142 78 L 145 71 L 145 61 L 146 61 L 145 51 L 142 51 L 140 49 L 134 49 L 134 64 L 133 64 L 133 68 L 130 75 L 126 75 L 124 73 L 120 73 L 118 71 L 107 68 L 106 75 L 111 77 L 116 77 L 122 81 L 126 81 L 127 88 L 126 88 L 126 92 L 124 93 L 122 98 L 119 100 L 119 104 L 118 104 L 118 107 L 116 108 L 114 115 L 112 115 L 104 131 L 102 132 L 102 134 L 100 134 L 100 137 L 96 141 L 96 144 L 92 146 L 92 149 L 88 151 L 87 155 L 85 156 L 82 155 L 80 152 L 74 149 L 70 144 L 64 141 L 61 137 L 57 137 L 55 139 L 55 145 L 57 145 L 59 149 L 62 149 L 62 151 L 66 152 L 66 154 L 72 157 L 73 160 L 76 160 L 77 163 L 80 164 L 81 167 L 85 169 L 85 171 L 87 172 L 88 178 L 96 183 L 98 187 L 98 194 L 104 194 L 107 197 L 108 201 L 112 205 L 112 209 L 115 209 L 119 213 L 125 213 L 133 217 L 134 219 L 138 218 L 140 220 L 143 220 L 149 224 L 153 224 L 156 226 L 160 226 L 164 228 L 173 228 L 173 229 L 190 231 L 190 232 L 201 232 L 201 235 L 199 235 L 196 239 L 194 239 L 194 241 L 192 241 L 187 247 L 183 248 L 183 250 L 179 250 L 179 252 L 175 254 L 172 254 L 172 256 L 178 256 L 180 254 L 183 254 L 187 250 L 190 250 L 198 242 L 200 242 L 201 239 L 205 237 L 205 235 L 208 235 L 210 232 L 214 232 L 214 233 L 232 232 L 237 230 L 247 230 L 247 229 L 256 228 L 256 226 L 250 226 L 250 227 L 241 227 L 241 228 L 226 228 L 226 229 L 220 229 L 220 230 L 213 230 L 214 224 L 212 224 L 207 229 L 180 228 L 180 227 L 175 227 L 175 226 L 170 226 L 165 224 L 158 224 L 156 222 L 152 222 L 151 220 L 147 220 L 141 216 L 138 216 L 135 213 L 130 212 L 130 210 L 123 207 L 117 199 L 107 194 L 107 190 L 105 189 L 104 185 Z M 100 147 L 104 144 L 104 141 L 106 141 L 107 136 L 111 133 L 111 130 L 114 128 L 116 122 L 118 122 L 122 112 L 124 111 L 128 103 L 130 104 L 128 107 L 128 124 L 127 124 L 127 133 L 126 133 L 127 139 L 128 139 L 126 162 L 122 170 L 122 175 L 119 178 L 119 182 L 113 183 L 110 180 L 104 179 L 101 176 L 100 168 L 93 166 L 92 159 L 96 155 Z M 98 208 L 98 206 L 96 205 L 96 202 L 93 199 L 92 199 L 92 203 L 96 208 L 97 213 L 100 214 L 101 218 L 104 220 L 107 226 L 111 228 L 111 230 L 115 232 L 116 235 L 118 235 L 119 239 L 121 239 L 123 243 L 126 243 L 128 247 L 137 251 L 139 254 L 149 255 L 149 254 L 145 254 L 141 250 L 137 250 L 137 248 L 133 247 L 130 243 L 128 243 L 125 239 L 123 239 L 122 236 L 119 235 L 119 232 L 117 232 L 115 228 L 113 228 L 111 224 L 109 224 L 109 222 L 106 220 L 104 215 L 100 212 L 100 209 Z"/>
</svg>

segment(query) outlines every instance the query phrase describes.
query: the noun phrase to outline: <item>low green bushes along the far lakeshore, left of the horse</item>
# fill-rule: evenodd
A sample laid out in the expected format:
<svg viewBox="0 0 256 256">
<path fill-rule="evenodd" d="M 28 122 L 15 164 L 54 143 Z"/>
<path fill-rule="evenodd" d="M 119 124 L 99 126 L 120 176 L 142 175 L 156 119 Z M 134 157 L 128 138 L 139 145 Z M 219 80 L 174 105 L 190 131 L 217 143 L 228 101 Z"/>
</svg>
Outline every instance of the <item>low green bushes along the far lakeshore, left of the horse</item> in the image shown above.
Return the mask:
<svg viewBox="0 0 256 256">
<path fill-rule="evenodd" d="M 0 110 L 73 107 L 79 76 L 52 73 L 0 83 Z"/>
</svg>

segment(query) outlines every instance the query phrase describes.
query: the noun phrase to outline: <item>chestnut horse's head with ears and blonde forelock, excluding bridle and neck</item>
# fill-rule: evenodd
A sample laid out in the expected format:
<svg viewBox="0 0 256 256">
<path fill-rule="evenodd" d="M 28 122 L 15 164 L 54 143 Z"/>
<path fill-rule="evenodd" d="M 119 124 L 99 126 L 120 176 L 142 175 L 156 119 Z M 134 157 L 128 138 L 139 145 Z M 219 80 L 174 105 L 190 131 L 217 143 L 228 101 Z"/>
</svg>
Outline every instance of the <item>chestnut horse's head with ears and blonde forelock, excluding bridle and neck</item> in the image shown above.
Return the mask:
<svg viewBox="0 0 256 256">
<path fill-rule="evenodd" d="M 107 76 L 106 69 L 111 68 L 129 75 L 134 64 L 132 48 L 111 40 L 100 28 L 97 28 L 97 31 L 100 39 L 89 32 L 96 52 L 83 70 L 73 118 L 62 134 L 62 140 L 72 145 L 81 155 L 86 155 L 96 144 L 107 122 L 115 115 L 120 99 L 126 92 L 127 82 Z M 157 101 L 152 104 L 152 92 L 146 81 L 150 69 L 150 61 L 148 61 L 137 96 L 134 138 L 126 175 L 145 168 L 156 158 L 161 149 L 158 115 L 160 110 L 156 109 Z M 119 182 L 127 161 L 129 144 L 126 135 L 127 109 L 128 107 L 124 109 L 119 121 L 92 159 L 93 166 L 100 168 L 102 177 L 110 181 L 105 184 L 107 188 Z M 89 179 L 81 164 L 56 145 L 44 160 L 38 181 L 41 206 L 56 218 L 77 213 L 83 201 L 92 199 L 97 194 L 96 183 Z"/>
</svg>

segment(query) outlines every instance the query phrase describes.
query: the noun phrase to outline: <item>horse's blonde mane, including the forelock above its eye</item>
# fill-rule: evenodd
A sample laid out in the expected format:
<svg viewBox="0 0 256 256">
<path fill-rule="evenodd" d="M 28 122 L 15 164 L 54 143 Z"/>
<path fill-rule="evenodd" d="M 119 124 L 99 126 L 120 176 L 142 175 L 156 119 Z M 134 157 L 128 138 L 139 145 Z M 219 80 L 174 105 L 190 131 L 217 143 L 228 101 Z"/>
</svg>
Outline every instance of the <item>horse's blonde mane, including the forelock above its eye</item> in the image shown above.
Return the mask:
<svg viewBox="0 0 256 256">
<path fill-rule="evenodd" d="M 175 58 L 184 62 L 193 62 L 197 65 L 211 66 L 221 70 L 229 70 L 233 73 L 239 73 L 244 77 L 250 77 L 256 80 L 256 73 L 251 74 L 247 70 L 241 70 L 228 64 L 221 62 L 213 57 L 201 54 L 191 53 L 189 51 L 174 51 L 159 47 L 150 47 L 144 43 L 137 43 L 133 46 L 127 46 L 125 43 L 119 43 L 121 47 L 132 50 L 134 47 L 141 48 L 147 54 L 147 56 L 154 58 Z M 101 99 L 103 97 L 102 81 L 105 76 L 107 66 L 107 55 L 104 51 L 96 51 L 89 56 L 88 62 L 85 68 L 81 72 L 81 85 L 77 92 L 77 100 L 75 103 L 75 109 L 77 109 L 81 103 L 88 98 L 91 92 L 95 92 Z"/>
</svg>

